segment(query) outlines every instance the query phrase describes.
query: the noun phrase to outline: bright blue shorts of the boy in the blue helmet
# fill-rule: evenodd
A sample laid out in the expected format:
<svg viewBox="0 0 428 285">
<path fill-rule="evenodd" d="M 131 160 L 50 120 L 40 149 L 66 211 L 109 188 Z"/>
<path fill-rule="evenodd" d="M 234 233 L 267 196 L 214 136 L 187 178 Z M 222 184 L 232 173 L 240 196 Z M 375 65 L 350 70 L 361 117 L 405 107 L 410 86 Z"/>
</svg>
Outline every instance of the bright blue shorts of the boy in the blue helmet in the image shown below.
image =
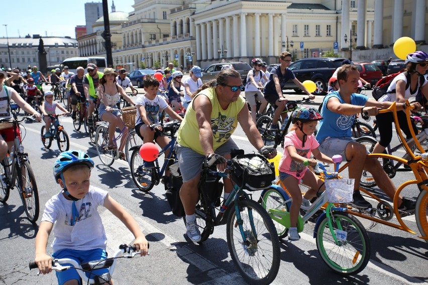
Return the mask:
<svg viewBox="0 0 428 285">
<path fill-rule="evenodd" d="M 105 259 L 107 258 L 107 252 L 101 248 L 90 249 L 90 250 L 75 250 L 75 249 L 62 249 L 52 254 L 53 258 L 70 258 L 76 260 L 78 263 L 88 262 L 92 260 Z M 62 265 L 71 265 L 62 264 Z M 94 278 L 95 275 L 101 275 L 106 272 L 109 272 L 109 268 L 101 268 L 92 270 L 92 272 L 86 272 L 86 276 L 89 278 Z M 62 285 L 68 280 L 80 280 L 79 273 L 74 268 L 70 268 L 68 270 L 58 272 L 55 271 L 56 277 L 58 279 L 58 284 Z"/>
</svg>

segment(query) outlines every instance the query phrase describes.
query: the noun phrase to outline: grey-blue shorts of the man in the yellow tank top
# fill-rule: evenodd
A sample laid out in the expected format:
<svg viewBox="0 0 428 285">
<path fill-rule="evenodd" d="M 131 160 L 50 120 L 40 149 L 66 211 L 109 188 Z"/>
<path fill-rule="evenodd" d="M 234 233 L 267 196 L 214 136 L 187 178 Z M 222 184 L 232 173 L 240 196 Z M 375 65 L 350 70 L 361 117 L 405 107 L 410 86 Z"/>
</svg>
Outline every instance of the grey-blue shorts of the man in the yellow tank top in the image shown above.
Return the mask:
<svg viewBox="0 0 428 285">
<path fill-rule="evenodd" d="M 238 149 L 238 146 L 232 138 L 229 138 L 226 143 L 221 145 L 214 153 L 224 156 L 230 154 L 232 149 Z M 190 148 L 180 146 L 179 144 L 175 146 L 175 152 L 177 154 L 178 166 L 180 167 L 183 182 L 195 178 L 202 170 L 202 163 L 205 156 L 196 153 Z"/>
</svg>

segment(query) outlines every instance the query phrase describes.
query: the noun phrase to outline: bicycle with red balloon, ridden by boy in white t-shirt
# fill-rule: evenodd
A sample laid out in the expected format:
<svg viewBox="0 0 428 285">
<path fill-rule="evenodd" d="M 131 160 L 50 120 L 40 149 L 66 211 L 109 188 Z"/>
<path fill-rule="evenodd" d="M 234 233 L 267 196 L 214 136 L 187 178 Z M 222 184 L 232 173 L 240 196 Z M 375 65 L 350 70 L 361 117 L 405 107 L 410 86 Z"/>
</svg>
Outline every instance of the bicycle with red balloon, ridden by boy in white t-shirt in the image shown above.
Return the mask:
<svg viewBox="0 0 428 285">
<path fill-rule="evenodd" d="M 165 162 L 162 166 L 162 168 L 159 168 L 159 161 L 158 158 L 153 162 L 154 167 L 146 169 L 144 168 L 144 161 L 140 157 L 140 146 L 135 146 L 130 149 L 132 152 L 131 160 L 130 160 L 130 166 L 131 166 L 131 175 L 132 180 L 134 181 L 135 185 L 137 185 L 138 189 L 140 189 L 143 192 L 149 192 L 152 190 L 153 186 L 158 185 L 160 182 L 160 178 L 163 177 L 163 174 L 165 173 L 165 170 L 167 167 L 169 167 L 171 164 L 177 162 L 177 157 L 175 155 L 175 143 L 177 141 L 177 138 L 175 137 L 175 133 L 178 131 L 178 128 L 180 127 L 180 121 L 174 120 L 171 122 L 163 123 L 162 124 L 162 134 L 166 134 L 168 137 L 171 138 L 171 141 L 168 143 L 168 145 L 165 146 L 160 152 L 158 157 L 160 157 L 162 154 L 164 154 L 167 150 L 169 150 L 168 156 L 165 158 L 167 162 Z M 173 163 L 170 163 L 173 162 Z M 165 184 L 165 190 L 167 188 L 167 183 L 164 181 Z"/>
</svg>

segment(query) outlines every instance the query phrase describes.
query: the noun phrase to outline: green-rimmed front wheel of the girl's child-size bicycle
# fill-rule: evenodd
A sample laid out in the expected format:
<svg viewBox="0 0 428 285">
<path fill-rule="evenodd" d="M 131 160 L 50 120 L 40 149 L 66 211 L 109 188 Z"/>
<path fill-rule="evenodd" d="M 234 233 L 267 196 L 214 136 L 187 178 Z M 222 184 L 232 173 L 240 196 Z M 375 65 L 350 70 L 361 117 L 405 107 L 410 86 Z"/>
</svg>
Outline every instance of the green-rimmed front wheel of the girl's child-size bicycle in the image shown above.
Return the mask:
<svg viewBox="0 0 428 285">
<path fill-rule="evenodd" d="M 370 259 L 370 240 L 366 229 L 354 216 L 333 212 L 332 224 L 337 235 L 338 224 L 346 231 L 346 240 L 336 244 L 329 228 L 327 216 L 320 221 L 316 233 L 316 248 L 323 261 L 341 275 L 361 272 Z M 335 251 L 336 250 L 336 251 Z M 355 252 L 355 253 L 354 253 Z M 340 259 L 340 260 L 339 260 Z"/>
</svg>

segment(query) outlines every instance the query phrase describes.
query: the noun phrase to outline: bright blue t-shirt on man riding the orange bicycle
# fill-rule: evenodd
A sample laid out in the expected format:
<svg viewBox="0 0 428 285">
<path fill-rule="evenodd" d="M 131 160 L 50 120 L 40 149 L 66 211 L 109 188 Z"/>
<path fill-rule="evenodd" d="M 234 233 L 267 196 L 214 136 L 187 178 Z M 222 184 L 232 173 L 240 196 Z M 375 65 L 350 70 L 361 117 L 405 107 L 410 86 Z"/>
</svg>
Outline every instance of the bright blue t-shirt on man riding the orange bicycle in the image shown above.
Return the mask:
<svg viewBox="0 0 428 285">
<path fill-rule="evenodd" d="M 331 92 L 324 98 L 323 106 L 321 108 L 321 115 L 324 117 L 319 123 L 318 132 L 316 133 L 316 140 L 321 143 L 326 137 L 343 137 L 351 136 L 351 127 L 354 123 L 356 114 L 348 116 L 332 112 L 327 108 L 327 102 L 330 98 L 336 97 L 342 104 L 346 102 L 339 95 L 338 91 Z M 351 104 L 357 106 L 364 106 L 368 98 L 364 95 L 352 93 Z"/>
</svg>

